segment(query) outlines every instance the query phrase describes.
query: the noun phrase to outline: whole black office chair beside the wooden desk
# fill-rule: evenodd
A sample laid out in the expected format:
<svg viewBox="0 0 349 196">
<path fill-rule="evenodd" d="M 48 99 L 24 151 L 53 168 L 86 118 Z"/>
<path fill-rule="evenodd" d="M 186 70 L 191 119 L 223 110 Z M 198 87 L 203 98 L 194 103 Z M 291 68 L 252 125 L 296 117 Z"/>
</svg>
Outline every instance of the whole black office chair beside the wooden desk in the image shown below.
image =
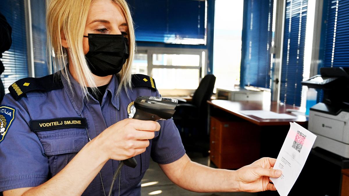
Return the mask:
<svg viewBox="0 0 349 196">
<path fill-rule="evenodd" d="M 182 142 L 187 150 L 200 151 L 208 155 L 209 135 L 207 131 L 208 104 L 216 77 L 206 75 L 195 90 L 192 101 L 179 101 L 173 115 L 174 123 L 179 129 Z M 200 143 L 200 144 L 198 144 Z"/>
</svg>

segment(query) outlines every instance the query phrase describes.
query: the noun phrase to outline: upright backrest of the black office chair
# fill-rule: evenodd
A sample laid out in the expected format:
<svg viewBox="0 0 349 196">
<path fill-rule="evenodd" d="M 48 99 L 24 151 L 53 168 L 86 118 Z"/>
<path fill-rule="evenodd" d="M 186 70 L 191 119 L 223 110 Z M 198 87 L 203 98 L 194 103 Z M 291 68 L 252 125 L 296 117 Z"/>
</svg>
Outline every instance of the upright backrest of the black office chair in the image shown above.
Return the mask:
<svg viewBox="0 0 349 196">
<path fill-rule="evenodd" d="M 213 93 L 213 88 L 215 86 L 215 83 L 216 83 L 216 77 L 212 74 L 208 74 L 202 78 L 198 89 L 196 89 L 194 92 L 193 99 L 192 99 L 192 104 L 198 107 L 199 110 L 203 102 L 206 102 L 207 100 L 210 99 Z"/>
</svg>

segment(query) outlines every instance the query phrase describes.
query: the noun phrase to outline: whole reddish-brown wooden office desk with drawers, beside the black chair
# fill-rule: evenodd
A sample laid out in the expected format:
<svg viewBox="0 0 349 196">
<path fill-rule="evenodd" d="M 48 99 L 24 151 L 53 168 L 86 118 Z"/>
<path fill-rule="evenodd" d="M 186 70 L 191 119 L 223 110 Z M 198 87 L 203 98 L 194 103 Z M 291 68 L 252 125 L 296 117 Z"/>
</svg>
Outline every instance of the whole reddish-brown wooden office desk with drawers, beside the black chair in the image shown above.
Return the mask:
<svg viewBox="0 0 349 196">
<path fill-rule="evenodd" d="M 210 160 L 218 168 L 236 169 L 251 164 L 260 157 L 276 158 L 288 133 L 290 122 L 297 122 L 307 127 L 305 116 L 297 116 L 295 119 L 261 119 L 239 112 L 265 110 L 288 113 L 286 109 L 299 110 L 299 107 L 291 105 L 229 100 L 211 100 L 207 103 L 210 122 Z"/>
</svg>

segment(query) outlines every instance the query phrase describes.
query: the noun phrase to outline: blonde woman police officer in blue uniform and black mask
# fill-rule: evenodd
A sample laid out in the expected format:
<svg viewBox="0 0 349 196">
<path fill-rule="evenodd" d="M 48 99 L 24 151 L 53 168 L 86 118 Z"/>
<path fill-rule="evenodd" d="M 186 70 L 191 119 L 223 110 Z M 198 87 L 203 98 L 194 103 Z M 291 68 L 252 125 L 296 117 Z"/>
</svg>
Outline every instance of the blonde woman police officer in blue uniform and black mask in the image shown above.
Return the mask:
<svg viewBox="0 0 349 196">
<path fill-rule="evenodd" d="M 140 195 L 156 161 L 178 186 L 197 192 L 275 190 L 275 159 L 236 171 L 192 162 L 172 119 L 130 119 L 138 96 L 159 96 L 153 78 L 131 75 L 135 37 L 125 0 L 51 0 L 47 32 L 54 75 L 24 78 L 0 106 L 0 191 L 8 195 Z M 151 27 L 149 27 L 151 28 Z M 119 160 L 124 166 L 110 190 Z"/>
</svg>

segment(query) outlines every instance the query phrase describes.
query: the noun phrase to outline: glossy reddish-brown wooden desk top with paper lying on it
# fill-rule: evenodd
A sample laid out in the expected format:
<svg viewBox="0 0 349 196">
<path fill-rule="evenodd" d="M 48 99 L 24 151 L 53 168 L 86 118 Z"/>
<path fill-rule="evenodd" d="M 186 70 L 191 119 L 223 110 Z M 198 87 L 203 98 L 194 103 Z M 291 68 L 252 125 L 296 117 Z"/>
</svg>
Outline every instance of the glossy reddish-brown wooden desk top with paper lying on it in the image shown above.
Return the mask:
<svg viewBox="0 0 349 196">
<path fill-rule="evenodd" d="M 286 109 L 299 110 L 299 107 L 282 103 L 278 104 L 276 101 L 273 101 L 270 104 L 265 104 L 262 101 L 211 100 L 207 101 L 207 103 L 259 126 L 290 125 L 290 122 L 296 122 L 299 125 L 305 125 L 308 121 L 308 118 L 302 115 L 298 115 L 295 119 L 261 119 L 253 115 L 245 115 L 239 112 L 241 110 L 265 110 L 294 115 L 290 112 L 286 112 Z"/>
</svg>

